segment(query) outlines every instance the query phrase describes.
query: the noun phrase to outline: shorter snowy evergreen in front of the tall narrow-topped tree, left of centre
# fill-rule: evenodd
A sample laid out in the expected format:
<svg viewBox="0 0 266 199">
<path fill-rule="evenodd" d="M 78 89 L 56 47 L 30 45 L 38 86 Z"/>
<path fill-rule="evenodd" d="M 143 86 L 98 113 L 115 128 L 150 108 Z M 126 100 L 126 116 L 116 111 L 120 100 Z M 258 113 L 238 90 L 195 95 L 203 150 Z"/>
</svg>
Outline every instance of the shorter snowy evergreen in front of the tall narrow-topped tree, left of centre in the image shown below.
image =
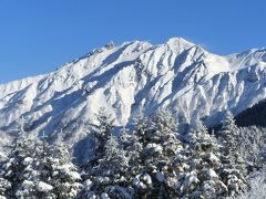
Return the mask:
<svg viewBox="0 0 266 199">
<path fill-rule="evenodd" d="M 110 136 L 106 142 L 104 157 L 98 159 L 96 165 L 89 171 L 85 180 L 84 197 L 129 198 L 132 189 L 129 189 L 129 158 L 123 148 L 120 148 L 116 137 Z M 89 186 L 88 186 L 89 185 Z"/>
</svg>

